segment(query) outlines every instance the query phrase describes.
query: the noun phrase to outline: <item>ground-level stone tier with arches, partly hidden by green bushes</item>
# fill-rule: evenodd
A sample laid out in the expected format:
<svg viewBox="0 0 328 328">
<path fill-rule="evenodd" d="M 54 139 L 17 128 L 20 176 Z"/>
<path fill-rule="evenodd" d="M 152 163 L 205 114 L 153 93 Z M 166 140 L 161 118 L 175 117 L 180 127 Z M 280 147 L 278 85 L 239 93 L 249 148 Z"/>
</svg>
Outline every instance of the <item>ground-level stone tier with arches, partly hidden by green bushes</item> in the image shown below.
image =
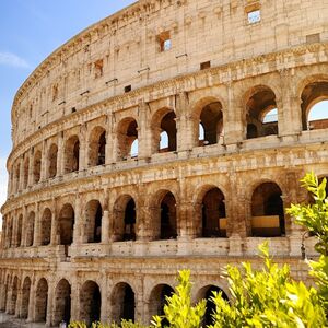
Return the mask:
<svg viewBox="0 0 328 328">
<path fill-rule="evenodd" d="M 260 259 L 248 258 L 254 266 Z M 311 283 L 307 265 L 300 259 L 276 259 L 291 265 L 292 276 Z M 209 261 L 211 266 L 209 267 Z M 0 263 L 0 311 L 27 323 L 44 323 L 58 327 L 61 321 L 82 320 L 87 324 L 130 319 L 149 324 L 152 316 L 162 315 L 166 296 L 177 284 L 177 272 L 191 270 L 191 301 L 206 298 L 208 311 L 204 323 L 211 324 L 213 291 L 230 298 L 226 280 L 221 277 L 227 263 L 238 258 L 180 258 L 180 259 L 90 259 L 58 263 L 49 260 Z M 206 269 L 204 269 L 206 268 Z"/>
</svg>

